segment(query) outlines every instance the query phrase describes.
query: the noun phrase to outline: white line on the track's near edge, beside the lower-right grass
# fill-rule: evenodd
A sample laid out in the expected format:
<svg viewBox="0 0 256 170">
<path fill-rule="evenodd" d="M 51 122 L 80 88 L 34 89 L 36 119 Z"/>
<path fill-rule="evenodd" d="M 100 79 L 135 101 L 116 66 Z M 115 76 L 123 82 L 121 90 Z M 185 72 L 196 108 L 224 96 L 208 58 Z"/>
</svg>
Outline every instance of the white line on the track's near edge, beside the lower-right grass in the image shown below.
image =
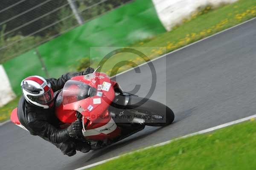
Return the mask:
<svg viewBox="0 0 256 170">
<path fill-rule="evenodd" d="M 135 152 L 140 152 L 140 151 L 143 151 L 143 150 L 147 150 L 147 149 L 150 149 L 152 147 L 159 147 L 159 146 L 163 146 L 165 144 L 169 144 L 173 141 L 177 141 L 178 139 L 182 139 L 182 138 L 188 138 L 190 136 L 194 136 L 194 135 L 200 135 L 200 134 L 204 134 L 204 133 L 208 133 L 208 132 L 212 132 L 214 130 L 218 130 L 218 129 L 221 129 L 223 127 L 227 127 L 227 126 L 230 126 L 230 125 L 233 125 L 233 124 L 238 124 L 238 123 L 241 123 L 243 121 L 248 121 L 252 118 L 256 118 L 256 115 L 252 115 L 252 116 L 249 116 L 249 117 L 246 117 L 246 118 L 241 118 L 239 120 L 236 120 L 236 121 L 231 121 L 229 123 L 225 123 L 225 124 L 221 124 L 221 125 L 218 125 L 218 126 L 215 126 L 215 127 L 211 127 L 209 129 L 206 129 L 206 130 L 201 130 L 201 131 L 198 131 L 198 132 L 195 132 L 195 133 L 190 133 L 188 135 L 185 135 L 185 136 L 181 136 L 179 138 L 175 138 L 175 139 L 172 139 L 172 140 L 169 140 L 169 141 L 165 141 L 165 142 L 162 142 L 160 144 L 155 144 L 155 145 L 152 145 L 150 147 L 145 147 L 143 149 L 140 149 L 140 150 L 136 150 L 136 151 L 133 151 L 133 152 L 129 152 L 129 153 L 125 153 L 123 155 L 120 155 L 120 156 L 116 156 L 116 157 L 113 157 L 113 158 L 109 158 L 109 159 L 106 159 L 106 160 L 103 160 L 103 161 L 99 161 L 99 162 L 96 162 L 94 164 L 90 164 L 90 165 L 87 165 L 87 166 L 84 166 L 84 167 L 80 167 L 78 169 L 75 169 L 75 170 L 84 170 L 84 169 L 87 169 L 87 168 L 90 168 L 90 167 L 94 167 L 94 166 L 97 166 L 97 165 L 100 165 L 100 164 L 104 164 L 108 161 L 111 161 L 113 159 L 117 159 L 117 158 L 120 158 L 121 156 L 125 156 L 125 155 L 128 155 L 128 154 L 132 154 L 132 153 L 135 153 Z"/>
</svg>

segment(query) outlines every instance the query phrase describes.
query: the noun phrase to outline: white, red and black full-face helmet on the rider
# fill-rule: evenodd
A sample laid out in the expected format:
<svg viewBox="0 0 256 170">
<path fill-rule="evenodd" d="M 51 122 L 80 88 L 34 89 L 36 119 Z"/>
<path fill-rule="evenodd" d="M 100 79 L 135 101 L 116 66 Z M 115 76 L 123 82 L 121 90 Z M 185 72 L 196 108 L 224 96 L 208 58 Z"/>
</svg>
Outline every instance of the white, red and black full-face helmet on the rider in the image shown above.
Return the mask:
<svg viewBox="0 0 256 170">
<path fill-rule="evenodd" d="M 40 76 L 29 76 L 21 84 L 24 98 L 30 104 L 48 109 L 53 105 L 53 91 L 51 84 Z"/>
</svg>

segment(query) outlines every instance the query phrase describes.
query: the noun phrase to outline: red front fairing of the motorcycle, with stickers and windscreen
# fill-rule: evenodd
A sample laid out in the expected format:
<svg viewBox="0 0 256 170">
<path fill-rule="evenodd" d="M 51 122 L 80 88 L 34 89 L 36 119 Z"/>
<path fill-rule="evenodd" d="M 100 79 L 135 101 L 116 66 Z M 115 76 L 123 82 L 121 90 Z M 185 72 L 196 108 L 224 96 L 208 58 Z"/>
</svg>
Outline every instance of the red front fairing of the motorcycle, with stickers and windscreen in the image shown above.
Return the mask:
<svg viewBox="0 0 256 170">
<path fill-rule="evenodd" d="M 115 98 L 113 86 L 115 81 L 104 73 L 73 77 L 67 81 L 63 91 L 58 95 L 55 107 L 57 118 L 63 123 L 76 121 L 76 111 L 87 122 L 84 137 L 90 140 L 114 138 L 120 134 L 119 128 L 111 118 L 108 107 Z M 88 86 L 89 85 L 89 86 Z M 88 96 L 89 87 L 96 89 L 96 94 Z M 83 94 L 87 92 L 88 94 Z M 81 95 L 83 94 L 83 95 Z"/>
</svg>

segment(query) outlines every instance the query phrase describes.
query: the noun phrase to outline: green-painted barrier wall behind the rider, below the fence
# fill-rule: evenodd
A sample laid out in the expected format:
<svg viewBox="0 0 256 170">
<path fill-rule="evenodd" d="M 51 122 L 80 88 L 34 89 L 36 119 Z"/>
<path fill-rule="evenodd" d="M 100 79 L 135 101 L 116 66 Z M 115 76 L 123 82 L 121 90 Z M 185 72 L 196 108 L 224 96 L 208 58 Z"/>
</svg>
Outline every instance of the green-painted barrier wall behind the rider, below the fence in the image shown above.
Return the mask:
<svg viewBox="0 0 256 170">
<path fill-rule="evenodd" d="M 44 43 L 38 50 L 49 75 L 57 78 L 70 71 L 78 59 L 89 57 L 90 47 L 128 46 L 165 31 L 151 0 L 136 0 Z M 26 76 L 45 76 L 34 50 L 3 66 L 16 94 L 20 94 L 20 81 Z"/>
</svg>

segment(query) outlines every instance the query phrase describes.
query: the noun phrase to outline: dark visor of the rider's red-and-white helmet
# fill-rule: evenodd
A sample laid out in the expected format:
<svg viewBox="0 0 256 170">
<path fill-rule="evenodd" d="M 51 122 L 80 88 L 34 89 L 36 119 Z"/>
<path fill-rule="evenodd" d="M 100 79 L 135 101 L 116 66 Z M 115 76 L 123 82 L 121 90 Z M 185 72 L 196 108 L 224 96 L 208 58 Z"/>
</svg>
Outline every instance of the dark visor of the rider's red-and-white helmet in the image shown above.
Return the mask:
<svg viewBox="0 0 256 170">
<path fill-rule="evenodd" d="M 51 103 L 54 98 L 53 91 L 51 88 L 43 95 L 39 95 L 39 96 L 27 95 L 27 96 L 31 101 L 34 101 L 38 104 L 43 104 L 43 105 Z"/>
</svg>

